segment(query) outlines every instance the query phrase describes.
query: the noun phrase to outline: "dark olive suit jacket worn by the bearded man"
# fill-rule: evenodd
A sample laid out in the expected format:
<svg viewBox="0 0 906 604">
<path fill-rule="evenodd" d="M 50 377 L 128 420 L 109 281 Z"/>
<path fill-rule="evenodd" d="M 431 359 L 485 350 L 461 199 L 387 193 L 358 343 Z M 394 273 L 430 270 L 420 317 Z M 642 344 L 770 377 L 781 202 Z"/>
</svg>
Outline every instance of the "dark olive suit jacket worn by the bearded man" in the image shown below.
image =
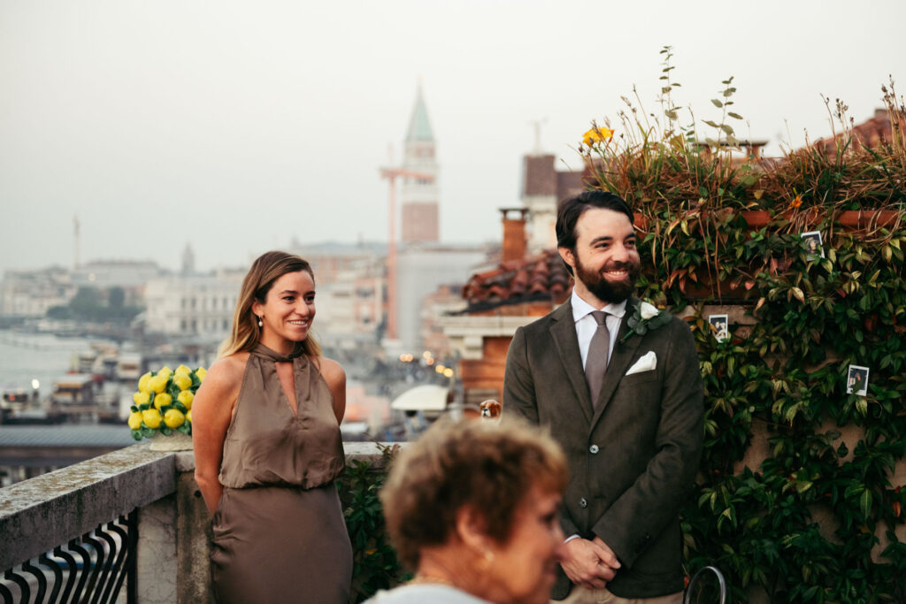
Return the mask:
<svg viewBox="0 0 906 604">
<path fill-rule="evenodd" d="M 634 297 L 626 304 L 595 406 L 570 302 L 516 330 L 503 397 L 505 424 L 507 416 L 525 417 L 550 427 L 564 447 L 564 534 L 597 535 L 612 548 L 622 568 L 607 587 L 622 598 L 683 589 L 678 513 L 698 471 L 704 411 L 686 321 L 673 318 L 621 342 L 638 304 Z M 625 375 L 650 351 L 655 369 Z M 564 599 L 571 587 L 561 570 L 553 598 Z"/>
</svg>

